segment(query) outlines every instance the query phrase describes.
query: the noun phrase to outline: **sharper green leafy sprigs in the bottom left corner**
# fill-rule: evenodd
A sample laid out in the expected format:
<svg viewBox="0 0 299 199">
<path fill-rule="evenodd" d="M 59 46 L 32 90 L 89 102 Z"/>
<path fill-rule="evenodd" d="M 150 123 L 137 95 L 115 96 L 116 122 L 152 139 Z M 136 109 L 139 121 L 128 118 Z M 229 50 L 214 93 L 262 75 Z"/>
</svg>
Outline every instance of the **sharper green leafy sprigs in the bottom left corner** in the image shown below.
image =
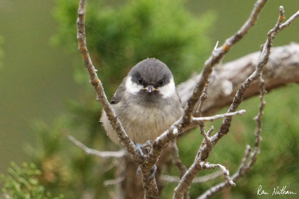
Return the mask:
<svg viewBox="0 0 299 199">
<path fill-rule="evenodd" d="M 6 199 L 62 199 L 63 195 L 52 198 L 50 192 L 46 192 L 44 186 L 39 183 L 41 172 L 33 163 L 23 163 L 22 168 L 11 162 L 8 169 L 9 175 L 0 174 L 4 184 L 2 192 Z"/>
</svg>

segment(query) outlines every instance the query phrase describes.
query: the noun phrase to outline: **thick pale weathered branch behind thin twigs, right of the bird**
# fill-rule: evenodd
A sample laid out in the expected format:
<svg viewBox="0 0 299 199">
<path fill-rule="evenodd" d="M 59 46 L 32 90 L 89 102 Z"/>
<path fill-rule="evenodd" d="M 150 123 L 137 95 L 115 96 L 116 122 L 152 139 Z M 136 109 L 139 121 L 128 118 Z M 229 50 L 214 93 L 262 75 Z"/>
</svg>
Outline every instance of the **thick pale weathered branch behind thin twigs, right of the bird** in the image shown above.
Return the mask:
<svg viewBox="0 0 299 199">
<path fill-rule="evenodd" d="M 213 115 L 233 101 L 240 85 L 256 69 L 260 51 L 251 53 L 235 61 L 218 65 L 212 72 L 208 87 L 208 100 L 202 107 L 202 115 Z M 182 105 L 187 103 L 199 75 L 195 75 L 178 85 L 177 90 Z M 299 44 L 271 48 L 269 61 L 264 67 L 263 79 L 267 91 L 289 83 L 299 83 Z M 252 82 L 244 94 L 243 99 L 259 94 L 258 81 Z M 190 124 L 189 128 L 197 123 Z"/>
</svg>

